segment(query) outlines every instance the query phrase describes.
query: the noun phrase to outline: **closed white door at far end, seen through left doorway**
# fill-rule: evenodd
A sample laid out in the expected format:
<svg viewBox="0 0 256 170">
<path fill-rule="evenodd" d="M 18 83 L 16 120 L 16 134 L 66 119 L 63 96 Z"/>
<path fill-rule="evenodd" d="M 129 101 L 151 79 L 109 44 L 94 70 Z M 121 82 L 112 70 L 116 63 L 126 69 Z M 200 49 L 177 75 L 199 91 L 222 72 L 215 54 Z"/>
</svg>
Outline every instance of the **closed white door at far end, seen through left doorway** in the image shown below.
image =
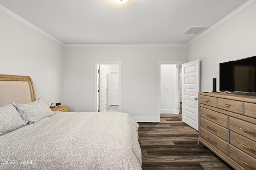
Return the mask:
<svg viewBox="0 0 256 170">
<path fill-rule="evenodd" d="M 119 73 L 111 72 L 111 105 L 119 105 Z"/>
</svg>

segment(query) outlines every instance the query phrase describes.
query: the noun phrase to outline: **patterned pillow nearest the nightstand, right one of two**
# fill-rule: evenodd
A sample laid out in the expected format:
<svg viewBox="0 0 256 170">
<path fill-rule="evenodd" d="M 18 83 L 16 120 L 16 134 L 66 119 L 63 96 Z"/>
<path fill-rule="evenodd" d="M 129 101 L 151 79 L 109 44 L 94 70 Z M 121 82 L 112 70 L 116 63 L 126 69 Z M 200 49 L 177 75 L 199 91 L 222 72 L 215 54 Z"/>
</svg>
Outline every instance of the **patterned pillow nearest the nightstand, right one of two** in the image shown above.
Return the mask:
<svg viewBox="0 0 256 170">
<path fill-rule="evenodd" d="M 50 109 L 48 104 L 46 104 L 46 102 L 44 102 L 44 100 L 41 98 L 29 104 L 12 104 L 21 114 L 24 114 L 26 116 L 29 124 L 40 121 L 44 117 L 54 115 L 54 112 Z"/>
</svg>

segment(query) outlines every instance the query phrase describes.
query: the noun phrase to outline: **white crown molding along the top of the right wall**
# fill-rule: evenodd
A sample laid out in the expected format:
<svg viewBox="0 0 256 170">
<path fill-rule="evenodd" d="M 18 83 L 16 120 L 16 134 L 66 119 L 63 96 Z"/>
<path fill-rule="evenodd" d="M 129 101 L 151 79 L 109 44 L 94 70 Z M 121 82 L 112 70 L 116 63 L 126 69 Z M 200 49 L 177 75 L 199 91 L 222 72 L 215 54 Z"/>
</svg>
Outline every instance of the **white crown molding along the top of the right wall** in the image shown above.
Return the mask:
<svg viewBox="0 0 256 170">
<path fill-rule="evenodd" d="M 206 29 L 204 32 L 202 32 L 201 34 L 199 34 L 198 36 L 196 36 L 194 39 L 192 39 L 191 41 L 189 41 L 187 43 L 188 46 L 192 45 L 194 42 L 198 41 L 199 39 L 201 39 L 202 37 L 208 35 L 209 33 L 211 33 L 212 31 L 214 31 L 215 29 L 217 29 L 218 27 L 222 26 L 224 23 L 232 20 L 233 18 L 235 18 L 236 16 L 238 16 L 239 14 L 241 14 L 242 12 L 246 11 L 248 8 L 254 6 L 256 4 L 256 0 L 248 0 L 247 2 L 245 2 L 244 4 L 242 4 L 240 7 L 236 8 L 236 10 L 234 10 L 233 12 L 231 12 L 230 14 L 228 14 L 226 17 L 222 18 L 220 21 L 216 22 L 214 25 L 212 25 L 210 28 Z"/>
</svg>

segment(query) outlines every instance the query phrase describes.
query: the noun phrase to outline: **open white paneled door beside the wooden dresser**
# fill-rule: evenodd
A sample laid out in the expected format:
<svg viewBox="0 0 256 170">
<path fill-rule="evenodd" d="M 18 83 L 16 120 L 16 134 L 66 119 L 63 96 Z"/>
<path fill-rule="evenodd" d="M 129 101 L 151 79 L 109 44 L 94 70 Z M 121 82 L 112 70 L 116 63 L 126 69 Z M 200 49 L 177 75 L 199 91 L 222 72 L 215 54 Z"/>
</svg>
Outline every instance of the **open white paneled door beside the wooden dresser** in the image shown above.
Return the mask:
<svg viewBox="0 0 256 170">
<path fill-rule="evenodd" d="M 198 131 L 199 59 L 182 64 L 182 121 Z"/>
</svg>

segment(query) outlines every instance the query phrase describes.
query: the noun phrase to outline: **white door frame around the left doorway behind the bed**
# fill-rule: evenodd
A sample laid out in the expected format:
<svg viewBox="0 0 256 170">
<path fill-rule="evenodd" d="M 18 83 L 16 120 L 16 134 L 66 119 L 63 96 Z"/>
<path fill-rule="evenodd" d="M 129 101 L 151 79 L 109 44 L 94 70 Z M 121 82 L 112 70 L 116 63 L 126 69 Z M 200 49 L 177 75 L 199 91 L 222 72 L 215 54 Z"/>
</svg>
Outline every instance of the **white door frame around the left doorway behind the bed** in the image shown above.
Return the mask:
<svg viewBox="0 0 256 170">
<path fill-rule="evenodd" d="M 122 112 L 122 107 L 121 107 L 121 61 L 99 61 L 95 62 L 94 65 L 94 110 L 98 112 L 98 84 L 97 84 L 97 75 L 98 75 L 98 65 L 118 65 L 118 73 L 119 73 L 119 105 L 118 105 L 118 111 Z"/>
</svg>

